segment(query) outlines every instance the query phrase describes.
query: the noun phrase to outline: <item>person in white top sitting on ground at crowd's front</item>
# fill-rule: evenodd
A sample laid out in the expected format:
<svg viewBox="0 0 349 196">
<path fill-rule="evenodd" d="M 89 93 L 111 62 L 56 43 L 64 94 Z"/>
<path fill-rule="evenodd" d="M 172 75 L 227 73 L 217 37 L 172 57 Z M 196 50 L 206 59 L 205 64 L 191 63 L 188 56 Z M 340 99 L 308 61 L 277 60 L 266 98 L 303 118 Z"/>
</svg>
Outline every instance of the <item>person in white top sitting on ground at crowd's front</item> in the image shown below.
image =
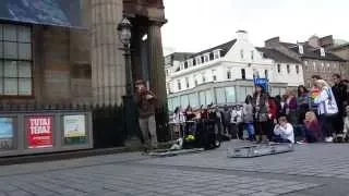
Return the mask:
<svg viewBox="0 0 349 196">
<path fill-rule="evenodd" d="M 293 126 L 287 121 L 286 115 L 279 117 L 279 123 L 275 125 L 274 142 L 276 143 L 294 143 Z"/>
</svg>

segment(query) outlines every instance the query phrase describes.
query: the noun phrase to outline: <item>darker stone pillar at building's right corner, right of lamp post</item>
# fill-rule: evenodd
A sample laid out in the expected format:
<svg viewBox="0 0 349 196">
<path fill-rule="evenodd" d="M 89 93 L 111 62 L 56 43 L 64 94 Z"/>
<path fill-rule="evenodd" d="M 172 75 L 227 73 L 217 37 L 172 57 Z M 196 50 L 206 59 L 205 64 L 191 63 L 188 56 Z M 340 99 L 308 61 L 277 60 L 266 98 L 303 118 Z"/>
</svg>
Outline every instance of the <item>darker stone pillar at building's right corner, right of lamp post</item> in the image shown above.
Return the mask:
<svg viewBox="0 0 349 196">
<path fill-rule="evenodd" d="M 152 23 L 148 27 L 148 63 L 151 68 L 151 89 L 158 98 L 159 106 L 167 105 L 161 24 Z"/>
</svg>

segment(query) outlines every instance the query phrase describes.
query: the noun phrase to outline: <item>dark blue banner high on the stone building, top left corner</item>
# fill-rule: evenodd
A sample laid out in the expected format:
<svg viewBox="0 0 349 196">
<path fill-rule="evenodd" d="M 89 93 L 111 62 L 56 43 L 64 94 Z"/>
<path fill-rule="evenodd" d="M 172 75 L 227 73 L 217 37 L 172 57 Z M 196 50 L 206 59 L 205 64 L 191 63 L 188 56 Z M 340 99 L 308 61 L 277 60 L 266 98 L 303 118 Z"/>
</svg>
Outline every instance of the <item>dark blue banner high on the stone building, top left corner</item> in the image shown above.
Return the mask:
<svg viewBox="0 0 349 196">
<path fill-rule="evenodd" d="M 0 20 L 82 27 L 80 0 L 1 0 Z"/>
</svg>

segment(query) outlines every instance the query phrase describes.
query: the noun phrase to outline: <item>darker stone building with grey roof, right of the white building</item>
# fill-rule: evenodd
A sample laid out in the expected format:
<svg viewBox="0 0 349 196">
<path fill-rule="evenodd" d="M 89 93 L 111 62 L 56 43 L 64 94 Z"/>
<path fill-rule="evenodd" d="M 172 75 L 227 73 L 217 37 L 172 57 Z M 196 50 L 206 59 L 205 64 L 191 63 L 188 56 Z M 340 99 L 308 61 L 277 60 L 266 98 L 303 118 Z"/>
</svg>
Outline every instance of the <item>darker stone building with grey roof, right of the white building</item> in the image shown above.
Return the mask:
<svg viewBox="0 0 349 196">
<path fill-rule="evenodd" d="M 330 82 L 333 74 L 346 74 L 346 60 L 334 54 L 328 49 L 318 45 L 314 37 L 309 41 L 290 44 L 280 41 L 275 37 L 265 41 L 266 48 L 273 48 L 279 52 L 302 62 L 305 86 L 312 86 L 311 76 L 321 75 L 324 79 Z"/>
</svg>

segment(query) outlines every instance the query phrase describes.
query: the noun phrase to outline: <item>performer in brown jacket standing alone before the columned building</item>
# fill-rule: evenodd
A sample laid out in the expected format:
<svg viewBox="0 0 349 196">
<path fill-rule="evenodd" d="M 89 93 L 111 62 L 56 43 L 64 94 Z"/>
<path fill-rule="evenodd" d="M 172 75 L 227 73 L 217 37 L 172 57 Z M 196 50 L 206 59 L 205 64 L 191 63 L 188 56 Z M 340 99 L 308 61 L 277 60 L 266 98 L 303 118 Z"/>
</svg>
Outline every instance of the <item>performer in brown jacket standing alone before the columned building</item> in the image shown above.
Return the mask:
<svg viewBox="0 0 349 196">
<path fill-rule="evenodd" d="M 139 122 L 145 144 L 145 150 L 147 150 L 147 148 L 157 148 L 155 121 L 155 103 L 157 100 L 156 96 L 146 88 L 145 82 L 142 79 L 135 82 L 135 102 L 139 107 Z"/>
</svg>

